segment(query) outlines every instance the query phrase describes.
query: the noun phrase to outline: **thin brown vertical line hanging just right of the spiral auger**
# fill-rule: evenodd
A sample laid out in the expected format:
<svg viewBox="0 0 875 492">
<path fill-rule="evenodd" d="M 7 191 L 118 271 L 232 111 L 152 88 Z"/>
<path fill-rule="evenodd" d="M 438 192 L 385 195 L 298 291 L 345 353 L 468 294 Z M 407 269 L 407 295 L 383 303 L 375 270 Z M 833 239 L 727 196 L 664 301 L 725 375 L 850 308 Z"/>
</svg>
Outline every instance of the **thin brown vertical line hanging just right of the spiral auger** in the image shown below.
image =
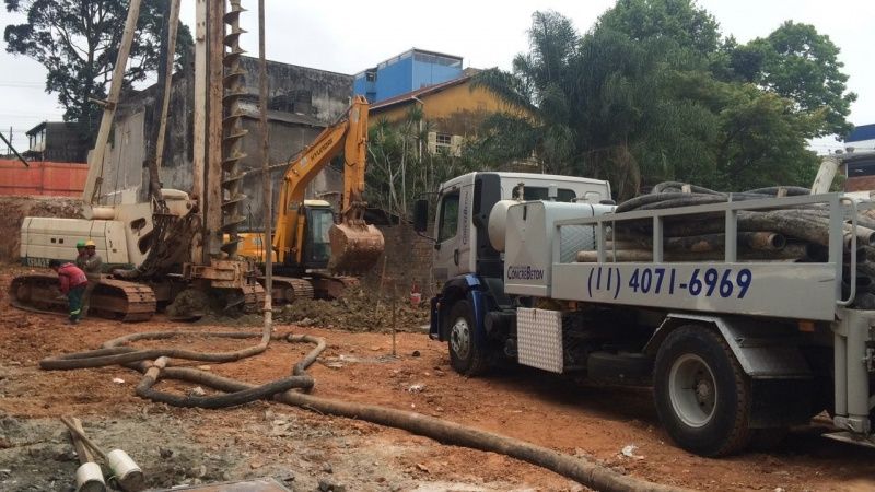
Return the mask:
<svg viewBox="0 0 875 492">
<path fill-rule="evenodd" d="M 270 175 L 270 140 L 267 129 L 267 58 L 265 56 L 265 0 L 258 0 L 258 94 L 259 122 L 261 130 L 261 174 L 265 179 L 265 329 L 273 327 L 273 179 Z"/>
</svg>

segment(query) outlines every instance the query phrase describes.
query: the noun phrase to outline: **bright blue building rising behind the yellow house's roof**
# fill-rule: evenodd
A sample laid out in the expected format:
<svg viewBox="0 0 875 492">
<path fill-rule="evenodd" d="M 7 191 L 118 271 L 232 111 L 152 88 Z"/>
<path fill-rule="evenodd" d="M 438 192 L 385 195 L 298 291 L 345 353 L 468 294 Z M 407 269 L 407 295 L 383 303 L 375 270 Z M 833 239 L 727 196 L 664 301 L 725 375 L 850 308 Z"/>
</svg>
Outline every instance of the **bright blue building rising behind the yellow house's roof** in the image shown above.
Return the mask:
<svg viewBox="0 0 875 492">
<path fill-rule="evenodd" d="M 462 57 L 412 48 L 357 73 L 352 90 L 380 103 L 462 75 Z"/>
</svg>

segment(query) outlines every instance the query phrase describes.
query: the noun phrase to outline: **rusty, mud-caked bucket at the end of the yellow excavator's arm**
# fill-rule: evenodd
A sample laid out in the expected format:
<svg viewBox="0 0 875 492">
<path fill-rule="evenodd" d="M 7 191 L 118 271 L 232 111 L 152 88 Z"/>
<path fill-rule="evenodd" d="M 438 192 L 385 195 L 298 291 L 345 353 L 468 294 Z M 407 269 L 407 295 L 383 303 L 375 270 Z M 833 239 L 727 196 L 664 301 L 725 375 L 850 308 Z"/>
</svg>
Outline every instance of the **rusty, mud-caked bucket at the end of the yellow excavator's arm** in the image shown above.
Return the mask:
<svg viewBox="0 0 875 492">
<path fill-rule="evenodd" d="M 342 223 L 328 230 L 332 271 L 360 274 L 371 269 L 383 253 L 383 233 L 373 225 Z"/>
</svg>

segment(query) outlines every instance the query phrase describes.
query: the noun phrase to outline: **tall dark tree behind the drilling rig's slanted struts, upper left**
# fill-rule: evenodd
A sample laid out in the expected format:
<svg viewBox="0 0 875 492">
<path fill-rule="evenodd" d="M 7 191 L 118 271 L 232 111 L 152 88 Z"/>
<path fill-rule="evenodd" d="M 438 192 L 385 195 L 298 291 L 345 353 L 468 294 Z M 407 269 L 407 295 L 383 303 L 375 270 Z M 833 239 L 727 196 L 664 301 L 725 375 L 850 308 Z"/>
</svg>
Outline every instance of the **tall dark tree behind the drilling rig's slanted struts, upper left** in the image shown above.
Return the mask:
<svg viewBox="0 0 875 492">
<path fill-rule="evenodd" d="M 162 15 L 168 0 L 144 0 L 131 46 L 125 83 L 142 81 L 158 68 Z M 93 99 L 104 99 L 121 43 L 127 2 L 119 0 L 5 0 L 9 12 L 27 16 L 5 26 L 7 51 L 24 55 L 47 70 L 46 92 L 57 93 L 63 119 L 91 137 L 101 118 Z M 179 26 L 177 59 L 184 63 L 194 45 Z"/>
</svg>

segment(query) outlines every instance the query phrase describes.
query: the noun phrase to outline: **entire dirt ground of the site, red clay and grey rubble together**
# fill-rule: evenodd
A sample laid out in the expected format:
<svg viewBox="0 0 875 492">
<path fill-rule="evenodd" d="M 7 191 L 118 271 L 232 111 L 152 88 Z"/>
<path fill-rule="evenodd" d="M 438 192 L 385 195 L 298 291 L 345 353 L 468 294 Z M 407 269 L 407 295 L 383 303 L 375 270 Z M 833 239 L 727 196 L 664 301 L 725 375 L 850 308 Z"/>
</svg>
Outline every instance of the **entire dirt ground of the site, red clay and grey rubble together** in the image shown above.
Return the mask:
<svg viewBox="0 0 875 492">
<path fill-rule="evenodd" d="M 122 448 L 152 488 L 275 477 L 294 491 L 578 491 L 556 473 L 500 455 L 444 446 L 362 421 L 259 401 L 226 410 L 177 409 L 138 398 L 139 374 L 120 366 L 45 372 L 45 356 L 94 349 L 133 331 L 210 331 L 226 326 L 145 324 L 61 317 L 11 308 L 16 267 L 0 268 L 0 490 L 72 490 L 78 461 L 58 417 L 83 420 L 106 447 Z M 424 307 L 423 307 L 424 308 Z M 417 319 L 417 318 L 411 318 Z M 407 321 L 410 323 L 410 321 Z M 768 454 L 705 459 L 674 447 L 648 390 L 581 386 L 535 370 L 464 378 L 446 348 L 418 325 L 392 335 L 278 325 L 328 349 L 310 373 L 314 395 L 382 405 L 503 433 L 603 462 L 651 481 L 713 491 L 875 490 L 875 449 L 820 437 L 828 421 L 794 430 Z M 257 331 L 257 327 L 248 327 Z M 235 350 L 241 341 L 176 341 Z M 163 342 L 167 344 L 167 342 Z M 250 383 L 287 375 L 311 347 L 273 343 L 260 356 L 209 371 Z M 198 365 L 198 364 L 192 364 Z M 118 379 L 122 382 L 118 382 Z M 174 388 L 174 384 L 162 384 Z M 178 390 L 187 388 L 175 387 Z M 190 388 L 188 388 L 190 389 Z M 633 457 L 621 453 L 635 446 Z"/>
</svg>

